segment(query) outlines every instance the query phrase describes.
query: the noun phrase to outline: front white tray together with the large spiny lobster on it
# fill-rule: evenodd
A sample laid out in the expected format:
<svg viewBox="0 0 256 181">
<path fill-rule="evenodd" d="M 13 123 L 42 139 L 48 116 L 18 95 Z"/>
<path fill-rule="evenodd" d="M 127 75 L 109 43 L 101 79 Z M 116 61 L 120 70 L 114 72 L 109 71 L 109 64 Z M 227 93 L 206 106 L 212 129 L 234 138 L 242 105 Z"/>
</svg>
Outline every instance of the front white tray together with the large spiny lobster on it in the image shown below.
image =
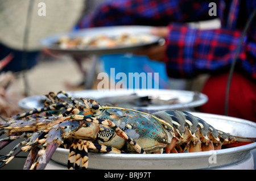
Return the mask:
<svg viewBox="0 0 256 181">
<path fill-rule="evenodd" d="M 178 110 L 147 113 L 65 91 L 46 97 L 42 107 L 0 120 L 7 134 L 0 149 L 20 140 L 0 157 L 0 168 L 27 151 L 24 169 L 45 169 L 50 159 L 68 169 L 127 170 L 214 169 L 250 159 L 253 169 L 252 121 Z"/>
</svg>

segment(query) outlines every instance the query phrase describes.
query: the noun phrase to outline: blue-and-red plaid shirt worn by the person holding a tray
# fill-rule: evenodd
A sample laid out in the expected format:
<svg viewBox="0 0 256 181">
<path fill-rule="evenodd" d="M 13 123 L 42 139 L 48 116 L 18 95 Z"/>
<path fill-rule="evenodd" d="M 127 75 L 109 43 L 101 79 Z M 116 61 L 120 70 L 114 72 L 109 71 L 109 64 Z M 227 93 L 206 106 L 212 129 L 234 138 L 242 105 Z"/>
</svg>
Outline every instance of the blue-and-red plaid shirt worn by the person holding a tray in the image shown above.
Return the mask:
<svg viewBox="0 0 256 181">
<path fill-rule="evenodd" d="M 210 2 L 216 2 L 221 28 L 199 30 L 186 24 L 216 18 L 209 16 Z M 93 14 L 81 19 L 80 28 L 118 25 L 167 26 L 167 73 L 170 77 L 192 78 L 201 73 L 229 70 L 242 30 L 256 0 L 250 1 L 106 1 Z M 256 18 L 249 27 L 236 70 L 256 80 Z"/>
</svg>

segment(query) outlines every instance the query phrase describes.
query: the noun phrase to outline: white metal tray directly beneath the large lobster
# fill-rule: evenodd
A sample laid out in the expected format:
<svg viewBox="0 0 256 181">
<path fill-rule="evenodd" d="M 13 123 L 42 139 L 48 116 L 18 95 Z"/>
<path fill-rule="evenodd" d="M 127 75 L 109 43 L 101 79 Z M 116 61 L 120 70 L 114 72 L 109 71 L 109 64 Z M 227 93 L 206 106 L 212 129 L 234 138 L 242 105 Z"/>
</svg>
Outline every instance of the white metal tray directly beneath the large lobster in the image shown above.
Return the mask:
<svg viewBox="0 0 256 181">
<path fill-rule="evenodd" d="M 226 133 L 236 136 L 256 137 L 256 123 L 251 121 L 208 113 L 191 113 Z M 236 148 L 197 153 L 143 155 L 89 153 L 89 169 L 217 169 L 248 159 L 251 155 L 250 150 L 255 150 L 255 148 L 256 142 Z M 52 160 L 61 165 L 67 165 L 68 154 L 68 149 L 57 148 Z M 216 156 L 216 163 L 209 162 L 211 156 Z"/>
</svg>

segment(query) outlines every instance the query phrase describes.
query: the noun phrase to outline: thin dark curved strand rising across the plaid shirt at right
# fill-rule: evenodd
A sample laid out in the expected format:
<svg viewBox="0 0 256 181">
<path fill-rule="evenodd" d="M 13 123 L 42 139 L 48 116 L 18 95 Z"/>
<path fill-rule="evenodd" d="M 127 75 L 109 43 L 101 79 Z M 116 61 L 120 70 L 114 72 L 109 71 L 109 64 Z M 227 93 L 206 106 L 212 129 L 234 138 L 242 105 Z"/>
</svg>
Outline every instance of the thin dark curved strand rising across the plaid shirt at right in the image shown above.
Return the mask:
<svg viewBox="0 0 256 181">
<path fill-rule="evenodd" d="M 231 80 L 232 80 L 232 75 L 233 75 L 233 72 L 234 72 L 234 67 L 235 67 L 236 62 L 237 62 L 238 53 L 241 50 L 243 39 L 244 39 L 244 37 L 245 37 L 245 35 L 247 33 L 247 30 L 249 28 L 249 25 L 250 25 L 251 21 L 253 20 L 253 18 L 255 16 L 255 13 L 256 13 L 256 8 L 254 9 L 253 13 L 250 15 L 250 18 L 247 20 L 247 22 L 245 24 L 245 29 L 242 32 L 242 37 L 241 37 L 241 40 L 240 40 L 240 44 L 238 45 L 238 48 L 236 50 L 236 54 L 234 56 L 234 60 L 232 62 L 232 65 L 231 65 L 231 68 L 230 68 L 230 71 L 229 71 L 229 77 L 228 77 L 228 83 L 226 85 L 226 95 L 225 95 L 225 112 L 224 112 L 224 114 L 226 116 L 228 116 L 229 90 L 230 90 L 230 84 L 231 84 Z"/>
</svg>

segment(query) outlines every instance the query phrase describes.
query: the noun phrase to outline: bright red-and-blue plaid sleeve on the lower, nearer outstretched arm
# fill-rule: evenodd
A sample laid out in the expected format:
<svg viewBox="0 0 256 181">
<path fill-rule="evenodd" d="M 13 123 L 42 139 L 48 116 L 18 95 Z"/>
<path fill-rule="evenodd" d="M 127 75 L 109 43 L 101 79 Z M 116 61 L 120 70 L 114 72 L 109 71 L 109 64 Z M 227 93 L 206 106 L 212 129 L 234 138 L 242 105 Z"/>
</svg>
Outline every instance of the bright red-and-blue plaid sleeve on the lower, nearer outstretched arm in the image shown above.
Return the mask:
<svg viewBox="0 0 256 181">
<path fill-rule="evenodd" d="M 168 29 L 164 62 L 168 75 L 176 78 L 230 69 L 242 36 L 241 31 L 199 30 L 179 23 L 171 23 Z M 255 47 L 248 46 L 245 37 L 236 64 L 252 78 L 256 78 L 256 63 L 248 54 L 254 51 Z"/>
</svg>

